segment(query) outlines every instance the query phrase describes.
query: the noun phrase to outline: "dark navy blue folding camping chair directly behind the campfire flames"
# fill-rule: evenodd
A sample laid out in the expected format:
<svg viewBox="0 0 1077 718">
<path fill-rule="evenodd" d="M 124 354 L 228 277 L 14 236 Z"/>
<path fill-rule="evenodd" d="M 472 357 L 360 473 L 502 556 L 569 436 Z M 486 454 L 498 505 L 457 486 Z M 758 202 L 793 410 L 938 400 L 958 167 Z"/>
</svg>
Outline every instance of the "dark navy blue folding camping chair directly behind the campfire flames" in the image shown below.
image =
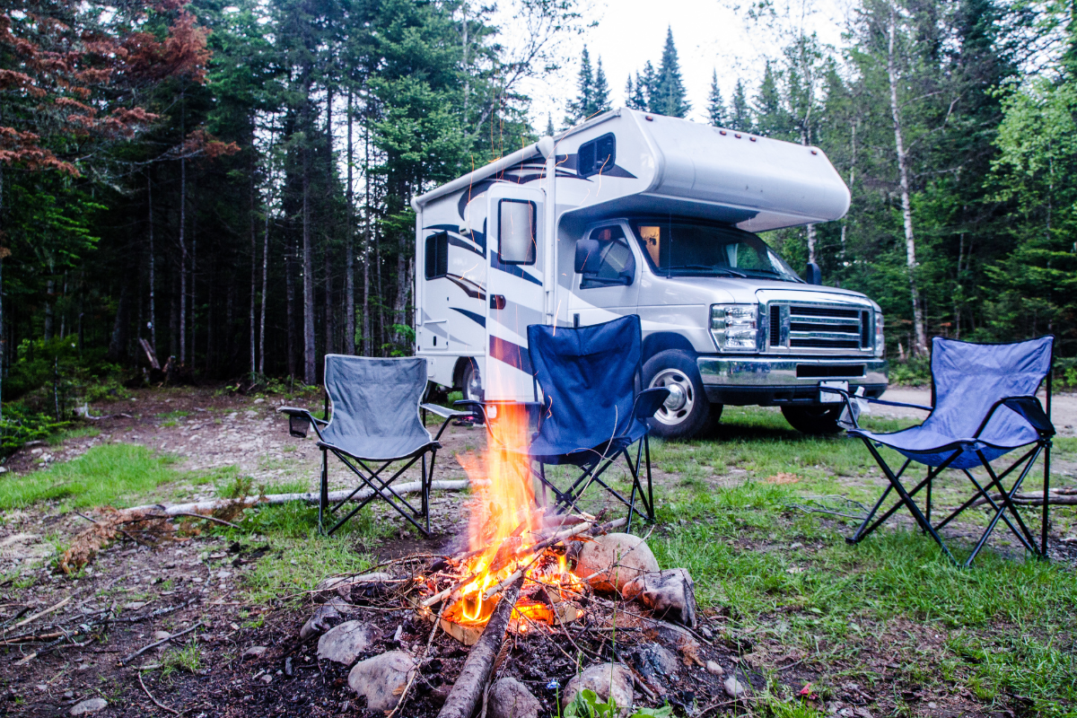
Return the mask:
<svg viewBox="0 0 1077 718">
<path fill-rule="evenodd" d="M 647 419 L 669 396 L 665 388 L 637 393 L 642 377 L 640 318 L 635 314 L 583 327 L 528 327 L 528 354 L 534 367 L 535 402 L 528 406 L 537 413 L 538 431 L 529 446 L 503 446 L 524 456 L 532 475 L 550 490 L 556 506 L 574 507 L 591 483 L 598 483 L 628 507 L 628 526 L 643 504 L 647 520 L 655 520 L 651 485 L 651 446 Z M 540 394 L 541 390 L 541 394 Z M 491 441 L 500 442 L 498 422 L 489 402 L 457 402 L 482 412 Z M 491 422 L 490 419 L 493 421 Z M 634 452 L 630 452 L 632 447 Z M 632 460 L 631 453 L 635 454 Z M 628 498 L 603 479 L 603 474 L 624 456 L 632 475 Z M 546 476 L 547 465 L 571 465 L 581 474 L 567 489 L 559 489 Z M 644 490 L 641 469 L 645 468 Z"/>
</svg>

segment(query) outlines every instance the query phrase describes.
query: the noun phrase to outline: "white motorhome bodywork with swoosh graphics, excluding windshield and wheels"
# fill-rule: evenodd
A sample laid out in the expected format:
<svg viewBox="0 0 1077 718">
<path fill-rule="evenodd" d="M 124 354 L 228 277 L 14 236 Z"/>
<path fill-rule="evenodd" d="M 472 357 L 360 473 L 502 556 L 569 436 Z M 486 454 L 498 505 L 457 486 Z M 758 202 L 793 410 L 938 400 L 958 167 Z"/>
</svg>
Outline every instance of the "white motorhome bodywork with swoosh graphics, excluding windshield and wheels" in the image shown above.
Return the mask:
<svg viewBox="0 0 1077 718">
<path fill-rule="evenodd" d="M 612 163 L 587 167 L 596 152 L 601 158 L 607 151 Z M 704 383 L 716 388 L 707 388 L 712 402 L 781 403 L 766 392 L 732 391 L 771 379 L 817 388 L 817 378 L 799 381 L 789 364 L 794 357 L 831 367 L 849 361 L 862 369 L 854 384 L 878 393 L 885 386 L 873 328 L 881 316 L 878 305 L 863 295 L 787 281 L 671 278 L 655 271 L 639 241 L 628 239 L 633 237 L 630 219 L 644 215 L 693 217 L 757 233 L 838 220 L 849 202 L 849 189 L 819 147 L 632 110 L 607 112 L 412 200 L 416 354 L 428 360 L 429 377 L 437 384 L 459 386 L 471 361 L 488 400 L 532 400 L 529 324 L 587 325 L 638 313 L 645 348 L 654 337 L 652 354 L 667 346 L 694 353 Z M 575 244 L 597 225 L 620 227 L 628 239 L 634 274 L 627 285 L 583 288 L 586 280 L 574 271 Z M 521 243 L 528 233 L 534 238 L 530 249 Z M 797 329 L 788 328 L 791 312 L 802 313 L 798 301 L 845 307 L 848 316 L 868 312 L 856 321 L 867 322 L 861 330 L 872 332 L 871 346 L 849 350 L 850 341 L 841 347 L 827 346 L 825 338 L 811 347 L 807 339 L 799 341 Z M 752 356 L 721 351 L 711 328 L 713 305 L 741 302 L 759 307 L 759 346 Z M 852 332 L 851 324 L 841 330 Z M 792 378 L 785 376 L 789 371 Z M 828 371 L 828 377 L 841 374 Z M 800 394 L 792 398 L 807 400 L 808 394 Z M 819 402 L 814 390 L 811 396 Z"/>
</svg>

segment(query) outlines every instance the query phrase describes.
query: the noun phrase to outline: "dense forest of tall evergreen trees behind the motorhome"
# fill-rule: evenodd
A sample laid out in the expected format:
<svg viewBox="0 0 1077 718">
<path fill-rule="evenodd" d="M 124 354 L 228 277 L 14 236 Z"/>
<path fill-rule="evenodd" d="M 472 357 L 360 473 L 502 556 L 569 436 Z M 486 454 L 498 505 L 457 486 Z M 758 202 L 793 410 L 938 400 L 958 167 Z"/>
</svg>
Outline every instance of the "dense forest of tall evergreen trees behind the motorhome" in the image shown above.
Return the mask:
<svg viewBox="0 0 1077 718">
<path fill-rule="evenodd" d="M 895 378 L 923 376 L 932 336 L 1051 333 L 1077 383 L 1073 8 L 858 0 L 842 47 L 773 3 L 744 12 L 783 50 L 729 97 L 715 69 L 695 114 L 817 145 L 852 193 L 840 222 L 766 239 L 880 302 Z M 576 0 L 503 16 L 467 0 L 4 3 L 4 421 L 30 411 L 19 399 L 59 420 L 90 384 L 148 380 L 146 349 L 177 381 L 306 384 L 325 353 L 408 354 L 412 196 L 610 108 L 693 112 L 672 32 L 618 91 L 601 58 L 561 52 L 586 38 Z M 524 90 L 559 66 L 563 117 Z"/>
</svg>

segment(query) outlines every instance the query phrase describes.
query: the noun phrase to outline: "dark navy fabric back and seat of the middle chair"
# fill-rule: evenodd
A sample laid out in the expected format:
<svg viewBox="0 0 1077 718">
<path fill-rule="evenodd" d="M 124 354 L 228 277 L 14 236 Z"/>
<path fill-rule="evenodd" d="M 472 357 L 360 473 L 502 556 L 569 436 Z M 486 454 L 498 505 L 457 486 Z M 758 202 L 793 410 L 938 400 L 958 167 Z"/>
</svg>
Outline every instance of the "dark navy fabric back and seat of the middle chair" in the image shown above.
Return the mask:
<svg viewBox="0 0 1077 718">
<path fill-rule="evenodd" d="M 640 318 L 565 327 L 532 324 L 528 353 L 542 389 L 540 435 L 563 453 L 621 436 L 634 421 Z"/>
</svg>

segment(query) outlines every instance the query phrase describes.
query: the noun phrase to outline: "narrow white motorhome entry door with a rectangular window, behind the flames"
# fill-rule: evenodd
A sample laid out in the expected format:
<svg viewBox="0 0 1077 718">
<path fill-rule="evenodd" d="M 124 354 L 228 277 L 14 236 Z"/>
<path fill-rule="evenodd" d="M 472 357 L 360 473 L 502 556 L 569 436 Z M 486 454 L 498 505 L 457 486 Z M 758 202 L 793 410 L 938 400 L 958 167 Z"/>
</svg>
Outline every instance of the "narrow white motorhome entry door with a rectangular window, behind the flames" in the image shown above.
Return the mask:
<svg viewBox="0 0 1077 718">
<path fill-rule="evenodd" d="M 534 400 L 528 325 L 543 323 L 544 197 L 541 189 L 500 182 L 487 193 L 487 400 Z"/>
</svg>

